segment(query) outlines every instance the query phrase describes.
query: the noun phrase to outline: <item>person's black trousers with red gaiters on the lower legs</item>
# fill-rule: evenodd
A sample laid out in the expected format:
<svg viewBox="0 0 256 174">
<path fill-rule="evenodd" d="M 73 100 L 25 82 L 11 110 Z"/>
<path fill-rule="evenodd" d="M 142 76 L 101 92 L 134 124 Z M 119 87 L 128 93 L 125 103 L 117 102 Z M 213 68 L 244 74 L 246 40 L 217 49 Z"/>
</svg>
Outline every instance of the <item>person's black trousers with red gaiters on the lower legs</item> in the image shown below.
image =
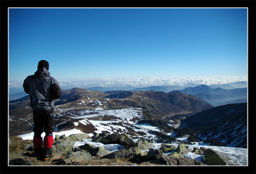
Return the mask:
<svg viewBox="0 0 256 174">
<path fill-rule="evenodd" d="M 35 148 L 43 146 L 43 139 L 41 134 L 45 132 L 44 147 L 51 148 L 54 142 L 54 108 L 50 110 L 35 111 L 33 110 L 34 122 L 34 138 L 33 144 Z"/>
</svg>

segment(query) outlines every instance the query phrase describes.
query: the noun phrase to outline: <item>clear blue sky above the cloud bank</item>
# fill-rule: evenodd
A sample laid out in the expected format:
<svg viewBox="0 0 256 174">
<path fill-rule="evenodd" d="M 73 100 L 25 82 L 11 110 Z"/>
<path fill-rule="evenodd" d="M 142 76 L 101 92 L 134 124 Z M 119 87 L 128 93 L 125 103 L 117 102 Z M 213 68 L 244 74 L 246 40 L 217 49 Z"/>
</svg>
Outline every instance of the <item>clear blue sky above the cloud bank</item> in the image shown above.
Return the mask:
<svg viewBox="0 0 256 174">
<path fill-rule="evenodd" d="M 10 9 L 9 80 L 247 75 L 247 9 Z"/>
</svg>

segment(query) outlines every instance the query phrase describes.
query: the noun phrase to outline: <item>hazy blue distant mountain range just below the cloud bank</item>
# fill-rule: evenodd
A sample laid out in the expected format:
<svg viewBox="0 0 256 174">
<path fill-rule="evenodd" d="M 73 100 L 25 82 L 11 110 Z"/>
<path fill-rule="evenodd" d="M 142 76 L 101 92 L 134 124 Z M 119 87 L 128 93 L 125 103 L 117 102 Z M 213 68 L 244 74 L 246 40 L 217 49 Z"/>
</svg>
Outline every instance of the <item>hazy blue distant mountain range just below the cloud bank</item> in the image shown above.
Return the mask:
<svg viewBox="0 0 256 174">
<path fill-rule="evenodd" d="M 231 84 L 231 83 L 230 83 Z M 100 94 L 98 91 L 99 95 L 113 95 L 113 94 L 118 94 L 118 93 L 124 93 L 124 92 L 134 92 L 134 91 L 156 91 L 156 92 L 169 92 L 169 91 L 180 91 L 184 94 L 192 94 L 195 95 L 197 97 L 199 97 L 200 99 L 208 102 L 209 104 L 211 104 L 212 106 L 219 106 L 219 105 L 223 105 L 223 104 L 229 104 L 229 103 L 240 103 L 240 102 L 247 102 L 247 88 L 236 88 L 236 89 L 223 89 L 220 88 L 218 86 L 222 86 L 225 88 L 231 88 L 232 86 L 230 84 L 225 84 L 225 85 L 199 85 L 199 86 L 195 86 L 195 87 L 187 87 L 185 89 L 182 89 L 182 87 L 179 86 L 150 86 L 150 87 L 146 87 L 146 88 L 136 88 L 136 89 L 132 89 L 130 91 L 127 90 L 116 90 L 116 91 L 107 91 L 109 89 L 113 89 L 113 88 L 103 88 L 103 87 L 94 87 L 94 88 L 90 88 L 93 90 L 96 90 L 94 93 L 96 94 L 98 90 L 104 91 L 105 94 Z M 245 82 L 240 82 L 240 83 L 232 83 L 233 85 L 235 84 L 236 86 L 244 86 L 246 83 Z M 215 87 L 215 88 L 214 88 Z M 74 88 L 76 89 L 76 88 Z M 80 88 L 79 88 L 80 89 Z M 98 89 L 98 90 L 97 90 Z M 115 89 L 119 89 L 119 88 L 115 88 Z M 182 89 L 182 90 L 180 90 Z M 83 89 L 83 93 L 85 91 L 90 91 L 87 89 Z M 74 94 L 73 98 L 68 98 L 68 95 L 71 95 L 71 93 L 67 93 L 69 90 L 65 90 L 63 93 L 62 98 L 60 99 L 61 101 L 56 102 L 56 104 L 60 104 L 60 103 L 64 103 L 64 102 L 68 102 L 68 101 L 72 101 L 72 100 L 77 100 L 77 97 L 79 97 L 78 94 Z M 67 94 L 66 94 L 66 93 Z M 69 91 L 70 92 L 70 91 Z M 90 91 L 92 92 L 92 91 Z M 21 93 L 19 93 L 19 95 L 22 95 Z M 68 98 L 62 100 L 64 97 Z M 28 101 L 27 101 L 28 100 Z M 22 97 L 20 99 L 16 99 L 16 100 L 11 100 L 10 103 L 10 110 L 16 109 L 16 108 L 20 108 L 20 107 L 25 107 L 25 106 L 29 106 L 29 97 L 26 94 L 25 97 Z"/>
</svg>

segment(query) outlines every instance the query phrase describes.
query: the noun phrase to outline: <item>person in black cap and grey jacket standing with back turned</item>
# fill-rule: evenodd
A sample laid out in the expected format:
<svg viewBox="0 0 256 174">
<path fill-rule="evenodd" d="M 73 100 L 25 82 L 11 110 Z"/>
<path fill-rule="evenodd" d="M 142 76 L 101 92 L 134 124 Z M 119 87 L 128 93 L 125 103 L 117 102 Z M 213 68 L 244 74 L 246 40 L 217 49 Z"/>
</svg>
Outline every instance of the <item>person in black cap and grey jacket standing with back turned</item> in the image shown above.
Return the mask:
<svg viewBox="0 0 256 174">
<path fill-rule="evenodd" d="M 62 89 L 55 78 L 50 76 L 48 61 L 38 62 L 37 71 L 23 82 L 23 88 L 30 95 L 33 109 L 33 145 L 37 159 L 49 160 L 54 156 L 54 99 L 62 95 Z M 45 132 L 44 141 L 41 134 Z"/>
</svg>

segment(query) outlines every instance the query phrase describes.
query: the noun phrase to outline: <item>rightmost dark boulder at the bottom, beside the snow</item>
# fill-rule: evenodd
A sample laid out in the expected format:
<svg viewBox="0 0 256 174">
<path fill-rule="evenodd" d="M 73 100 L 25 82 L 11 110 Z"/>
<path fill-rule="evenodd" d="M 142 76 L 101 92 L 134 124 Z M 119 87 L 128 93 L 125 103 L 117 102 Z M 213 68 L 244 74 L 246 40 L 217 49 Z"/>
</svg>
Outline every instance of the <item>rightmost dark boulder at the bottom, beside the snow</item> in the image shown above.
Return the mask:
<svg viewBox="0 0 256 174">
<path fill-rule="evenodd" d="M 228 165 L 229 159 L 226 154 L 207 149 L 204 153 L 204 163 L 207 165 Z"/>
</svg>

